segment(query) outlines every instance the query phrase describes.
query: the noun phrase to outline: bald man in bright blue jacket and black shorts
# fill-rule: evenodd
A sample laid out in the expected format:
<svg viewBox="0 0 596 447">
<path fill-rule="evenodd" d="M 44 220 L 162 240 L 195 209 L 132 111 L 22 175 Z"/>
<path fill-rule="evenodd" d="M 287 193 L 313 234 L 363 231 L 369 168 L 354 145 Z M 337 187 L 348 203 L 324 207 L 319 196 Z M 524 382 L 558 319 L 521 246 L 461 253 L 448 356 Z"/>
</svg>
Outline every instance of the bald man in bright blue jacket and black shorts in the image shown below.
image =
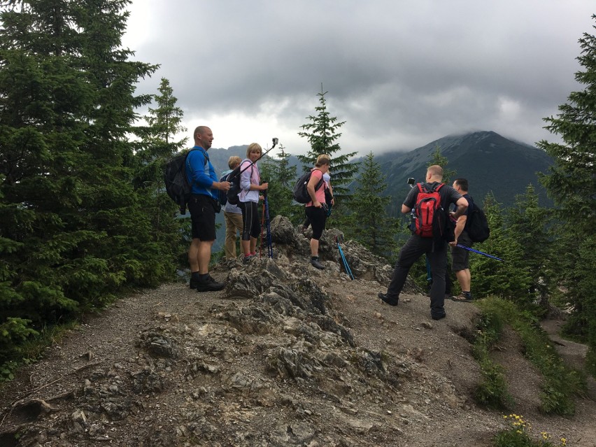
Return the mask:
<svg viewBox="0 0 596 447">
<path fill-rule="evenodd" d="M 225 283 L 218 283 L 209 275 L 211 248 L 215 242 L 215 211 L 219 211 L 218 193 L 229 190 L 229 182 L 219 182 L 207 151 L 213 142 L 213 132 L 206 126 L 194 129 L 194 148 L 186 158 L 186 176 L 192 186 L 188 201 L 192 225 L 192 242 L 188 249 L 190 288 L 197 292 L 222 290 Z"/>
</svg>

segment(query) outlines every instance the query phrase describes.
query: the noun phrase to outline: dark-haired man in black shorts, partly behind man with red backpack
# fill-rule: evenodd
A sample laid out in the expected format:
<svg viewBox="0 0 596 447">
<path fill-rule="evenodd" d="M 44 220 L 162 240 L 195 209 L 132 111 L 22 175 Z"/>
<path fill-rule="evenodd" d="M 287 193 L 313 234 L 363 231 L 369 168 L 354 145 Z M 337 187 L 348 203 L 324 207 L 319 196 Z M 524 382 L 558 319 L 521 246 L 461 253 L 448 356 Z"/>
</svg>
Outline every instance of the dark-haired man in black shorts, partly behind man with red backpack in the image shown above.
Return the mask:
<svg viewBox="0 0 596 447">
<path fill-rule="evenodd" d="M 465 250 L 464 248 L 457 247 L 457 244 L 459 243 L 462 246 L 466 247 L 472 246 L 472 241 L 466 231 L 466 225 L 468 213 L 469 211 L 472 211 L 474 207 L 474 202 L 471 201 L 471 197 L 468 194 L 468 180 L 466 180 L 465 178 L 456 178 L 453 182 L 453 189 L 462 194 L 462 197 L 466 199 L 468 203 L 468 208 L 462 215 L 460 215 L 457 218 L 457 220 L 455 220 L 455 241 L 449 243 L 449 245 L 451 246 L 452 259 L 451 270 L 455 272 L 455 277 L 457 278 L 457 281 L 460 283 L 462 293 L 460 293 L 460 295 L 457 295 L 457 297 L 450 296 L 449 299 L 452 299 L 453 301 L 468 302 L 472 300 L 470 292 L 470 252 L 469 250 Z M 453 211 L 449 213 L 449 215 L 451 216 L 451 218 L 454 218 Z"/>
</svg>

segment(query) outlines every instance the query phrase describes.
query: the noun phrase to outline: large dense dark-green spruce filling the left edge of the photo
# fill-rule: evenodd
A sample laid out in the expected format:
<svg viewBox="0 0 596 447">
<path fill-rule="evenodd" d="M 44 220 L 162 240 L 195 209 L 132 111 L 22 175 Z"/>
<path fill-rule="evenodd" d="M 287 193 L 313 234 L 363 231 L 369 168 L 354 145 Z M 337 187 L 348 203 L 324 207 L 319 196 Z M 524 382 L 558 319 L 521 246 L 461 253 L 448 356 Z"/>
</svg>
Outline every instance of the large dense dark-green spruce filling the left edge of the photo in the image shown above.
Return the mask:
<svg viewBox="0 0 596 447">
<path fill-rule="evenodd" d="M 2 356 L 31 328 L 164 278 L 127 142 L 148 101 L 135 84 L 156 67 L 120 48 L 127 3 L 2 3 Z"/>
</svg>

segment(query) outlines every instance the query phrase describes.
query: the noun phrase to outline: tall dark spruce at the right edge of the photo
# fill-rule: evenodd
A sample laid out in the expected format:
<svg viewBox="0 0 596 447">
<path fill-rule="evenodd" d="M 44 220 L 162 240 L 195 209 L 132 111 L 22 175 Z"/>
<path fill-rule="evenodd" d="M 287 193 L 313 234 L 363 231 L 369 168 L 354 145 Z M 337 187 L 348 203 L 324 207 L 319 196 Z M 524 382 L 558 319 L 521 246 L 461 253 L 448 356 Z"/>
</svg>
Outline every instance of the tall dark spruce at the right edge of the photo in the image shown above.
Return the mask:
<svg viewBox="0 0 596 447">
<path fill-rule="evenodd" d="M 560 136 L 562 143 L 543 140 L 537 146 L 554 159 L 554 166 L 540 181 L 558 207 L 558 218 L 566 224 L 565 239 L 576 241 L 567 247 L 568 269 L 560 278 L 573 309 L 567 328 L 588 340 L 596 371 L 596 289 L 586 281 L 593 278 L 596 264 L 595 250 L 590 252 L 596 245 L 596 36 L 585 33 L 579 43 L 577 59 L 583 71 L 575 73 L 575 79 L 585 89 L 569 94 L 556 118 L 545 118 L 546 129 Z"/>
</svg>

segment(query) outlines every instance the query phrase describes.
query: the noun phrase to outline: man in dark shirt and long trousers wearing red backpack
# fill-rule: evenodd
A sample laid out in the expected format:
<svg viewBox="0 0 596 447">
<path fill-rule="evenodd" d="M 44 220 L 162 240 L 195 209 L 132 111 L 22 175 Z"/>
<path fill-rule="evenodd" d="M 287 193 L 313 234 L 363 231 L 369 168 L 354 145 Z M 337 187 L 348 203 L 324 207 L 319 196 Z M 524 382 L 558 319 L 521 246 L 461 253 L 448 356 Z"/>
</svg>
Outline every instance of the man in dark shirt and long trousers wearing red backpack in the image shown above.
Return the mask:
<svg viewBox="0 0 596 447">
<path fill-rule="evenodd" d="M 442 183 L 443 168 L 434 164 L 426 172 L 426 185 L 432 189 L 439 187 L 441 206 L 447 210 L 450 204 L 457 205 L 453 216 L 457 219 L 467 208 L 467 201 L 462 195 L 448 185 Z M 419 189 L 413 187 L 402 204 L 402 213 L 407 214 L 416 206 Z M 445 274 L 447 271 L 447 241 L 434 237 L 423 237 L 413 233 L 399 250 L 395 269 L 387 293 L 379 293 L 378 297 L 390 306 L 397 306 L 399 293 L 404 288 L 408 272 L 412 264 L 423 254 L 427 255 L 432 273 L 430 290 L 430 315 L 433 320 L 445 318 Z"/>
</svg>

